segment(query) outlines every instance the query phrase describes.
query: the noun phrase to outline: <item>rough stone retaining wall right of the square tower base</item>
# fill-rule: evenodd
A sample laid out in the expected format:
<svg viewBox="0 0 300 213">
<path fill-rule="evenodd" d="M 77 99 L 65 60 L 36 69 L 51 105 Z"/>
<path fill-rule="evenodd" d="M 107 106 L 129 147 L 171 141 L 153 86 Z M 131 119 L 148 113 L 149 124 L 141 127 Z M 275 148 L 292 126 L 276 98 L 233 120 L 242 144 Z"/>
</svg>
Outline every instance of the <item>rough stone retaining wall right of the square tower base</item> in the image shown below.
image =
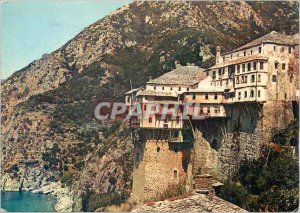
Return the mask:
<svg viewBox="0 0 300 213">
<path fill-rule="evenodd" d="M 241 162 L 261 155 L 274 128 L 284 128 L 294 119 L 288 101 L 233 104 L 227 107 L 227 115 L 195 125 L 194 174 L 211 173 L 221 181 L 229 178 Z"/>
</svg>

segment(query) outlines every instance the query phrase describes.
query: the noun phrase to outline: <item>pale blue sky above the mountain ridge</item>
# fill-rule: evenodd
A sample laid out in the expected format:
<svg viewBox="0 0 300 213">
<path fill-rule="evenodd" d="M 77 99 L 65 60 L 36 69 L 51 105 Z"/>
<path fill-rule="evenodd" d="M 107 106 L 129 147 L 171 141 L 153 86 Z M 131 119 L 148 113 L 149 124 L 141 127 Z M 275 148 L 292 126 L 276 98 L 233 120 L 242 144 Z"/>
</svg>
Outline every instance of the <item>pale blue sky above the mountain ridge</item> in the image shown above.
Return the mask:
<svg viewBox="0 0 300 213">
<path fill-rule="evenodd" d="M 1 2 L 2 0 L 0 0 Z M 130 0 L 7 0 L 0 4 L 1 79 L 51 53 Z"/>
</svg>

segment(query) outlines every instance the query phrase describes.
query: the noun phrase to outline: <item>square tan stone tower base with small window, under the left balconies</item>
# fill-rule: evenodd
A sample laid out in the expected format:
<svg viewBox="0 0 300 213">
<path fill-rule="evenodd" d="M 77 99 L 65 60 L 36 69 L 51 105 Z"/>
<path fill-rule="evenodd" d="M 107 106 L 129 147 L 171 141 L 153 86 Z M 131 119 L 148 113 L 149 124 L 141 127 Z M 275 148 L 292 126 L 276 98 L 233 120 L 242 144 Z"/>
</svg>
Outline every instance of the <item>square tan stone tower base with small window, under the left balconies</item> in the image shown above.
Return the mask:
<svg viewBox="0 0 300 213">
<path fill-rule="evenodd" d="M 153 199 L 174 184 L 185 183 L 190 148 L 184 143 L 147 140 L 136 144 L 133 199 Z"/>
</svg>

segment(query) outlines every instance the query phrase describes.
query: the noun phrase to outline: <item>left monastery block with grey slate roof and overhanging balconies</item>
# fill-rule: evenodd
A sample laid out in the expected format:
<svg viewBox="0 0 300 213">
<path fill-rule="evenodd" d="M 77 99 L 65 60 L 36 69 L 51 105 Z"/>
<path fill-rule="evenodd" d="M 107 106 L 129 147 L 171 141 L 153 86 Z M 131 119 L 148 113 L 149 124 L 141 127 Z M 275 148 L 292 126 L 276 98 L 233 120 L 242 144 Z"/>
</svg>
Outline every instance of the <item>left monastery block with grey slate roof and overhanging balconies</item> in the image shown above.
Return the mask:
<svg viewBox="0 0 300 213">
<path fill-rule="evenodd" d="M 204 78 L 206 78 L 204 70 L 197 66 L 179 66 L 156 79 L 151 79 L 145 87 L 127 92 L 125 94 L 127 106 L 139 103 L 141 108 L 141 119 L 132 118 L 131 125 L 148 129 L 181 129 L 183 127 L 181 95 L 197 89 L 199 81 Z M 147 118 L 144 115 L 150 104 L 160 105 L 161 110 Z M 168 111 L 179 107 L 175 119 L 172 118 L 172 113 L 167 113 L 162 119 L 165 104 L 168 105 Z"/>
</svg>

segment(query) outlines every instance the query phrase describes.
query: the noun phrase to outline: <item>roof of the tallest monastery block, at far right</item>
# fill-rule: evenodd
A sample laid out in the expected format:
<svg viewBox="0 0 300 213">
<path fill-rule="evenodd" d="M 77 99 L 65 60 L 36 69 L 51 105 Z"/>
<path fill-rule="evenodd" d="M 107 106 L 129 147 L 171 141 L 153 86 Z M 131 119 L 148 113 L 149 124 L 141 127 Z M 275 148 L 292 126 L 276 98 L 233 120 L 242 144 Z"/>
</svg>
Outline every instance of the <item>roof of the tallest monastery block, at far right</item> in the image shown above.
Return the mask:
<svg viewBox="0 0 300 213">
<path fill-rule="evenodd" d="M 224 53 L 222 55 L 225 55 L 225 54 L 228 54 L 231 52 L 240 51 L 243 49 L 247 49 L 249 47 L 257 46 L 257 45 L 260 45 L 261 43 L 296 45 L 296 44 L 299 44 L 299 33 L 297 33 L 295 35 L 286 35 L 286 34 L 278 33 L 276 31 L 272 31 L 260 38 L 257 38 L 237 49 L 234 49 L 234 50 Z"/>
</svg>

